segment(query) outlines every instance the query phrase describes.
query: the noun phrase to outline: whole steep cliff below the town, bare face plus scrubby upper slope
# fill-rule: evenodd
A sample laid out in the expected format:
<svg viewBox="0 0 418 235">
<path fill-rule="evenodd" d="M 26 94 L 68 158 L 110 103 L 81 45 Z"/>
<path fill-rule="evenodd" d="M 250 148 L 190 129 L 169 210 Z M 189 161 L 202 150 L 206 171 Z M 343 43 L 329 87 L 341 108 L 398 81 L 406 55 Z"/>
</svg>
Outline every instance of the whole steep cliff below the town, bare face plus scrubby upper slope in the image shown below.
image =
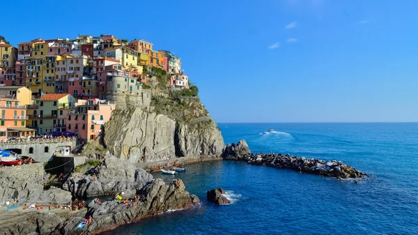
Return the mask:
<svg viewBox="0 0 418 235">
<path fill-rule="evenodd" d="M 208 111 L 190 90 L 169 88 L 169 75 L 148 70 L 150 108 L 129 105 L 113 112 L 104 125 L 101 144 L 123 160 L 147 162 L 183 156 L 219 156 L 224 139 Z M 90 148 L 91 149 L 91 148 Z"/>
</svg>

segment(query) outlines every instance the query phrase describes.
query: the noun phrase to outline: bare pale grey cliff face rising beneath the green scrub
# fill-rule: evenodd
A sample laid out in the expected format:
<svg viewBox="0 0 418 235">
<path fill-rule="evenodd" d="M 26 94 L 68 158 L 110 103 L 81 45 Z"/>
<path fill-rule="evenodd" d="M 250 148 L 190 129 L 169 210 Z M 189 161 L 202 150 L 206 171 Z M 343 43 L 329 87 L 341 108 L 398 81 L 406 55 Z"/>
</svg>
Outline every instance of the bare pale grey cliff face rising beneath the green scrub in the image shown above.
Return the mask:
<svg viewBox="0 0 418 235">
<path fill-rule="evenodd" d="M 147 112 L 141 107 L 115 110 L 104 126 L 104 144 L 114 156 L 147 162 L 183 156 L 220 156 L 224 139 L 216 123 L 206 116 L 189 123 Z"/>
</svg>

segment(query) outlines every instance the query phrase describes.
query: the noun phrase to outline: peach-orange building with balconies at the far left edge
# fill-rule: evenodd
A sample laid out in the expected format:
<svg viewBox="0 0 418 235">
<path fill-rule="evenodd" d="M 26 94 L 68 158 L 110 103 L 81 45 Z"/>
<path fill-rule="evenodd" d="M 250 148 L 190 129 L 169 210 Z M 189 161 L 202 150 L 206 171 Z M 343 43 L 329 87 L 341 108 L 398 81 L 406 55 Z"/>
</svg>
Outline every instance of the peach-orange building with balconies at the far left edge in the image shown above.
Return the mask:
<svg viewBox="0 0 418 235">
<path fill-rule="evenodd" d="M 35 136 L 35 130 L 26 128 L 26 106 L 20 100 L 0 98 L 0 139 Z"/>
</svg>

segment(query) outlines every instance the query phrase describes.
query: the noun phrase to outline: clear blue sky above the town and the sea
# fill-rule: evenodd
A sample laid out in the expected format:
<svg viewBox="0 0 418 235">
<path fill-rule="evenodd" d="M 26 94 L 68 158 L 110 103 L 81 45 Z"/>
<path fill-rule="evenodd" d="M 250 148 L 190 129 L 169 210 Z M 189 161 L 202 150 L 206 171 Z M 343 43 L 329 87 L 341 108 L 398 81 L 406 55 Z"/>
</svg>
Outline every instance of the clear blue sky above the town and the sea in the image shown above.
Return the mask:
<svg viewBox="0 0 418 235">
<path fill-rule="evenodd" d="M 182 58 L 217 122 L 418 121 L 417 7 L 408 0 L 6 1 L 0 34 L 13 45 L 78 33 L 150 40 Z"/>
</svg>

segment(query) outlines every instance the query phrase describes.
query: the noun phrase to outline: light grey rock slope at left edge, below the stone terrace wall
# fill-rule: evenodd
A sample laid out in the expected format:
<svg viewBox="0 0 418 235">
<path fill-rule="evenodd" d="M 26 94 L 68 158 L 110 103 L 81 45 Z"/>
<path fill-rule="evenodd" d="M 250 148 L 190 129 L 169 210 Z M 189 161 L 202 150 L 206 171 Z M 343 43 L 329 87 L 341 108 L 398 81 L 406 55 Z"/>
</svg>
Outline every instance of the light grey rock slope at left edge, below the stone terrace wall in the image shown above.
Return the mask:
<svg viewBox="0 0 418 235">
<path fill-rule="evenodd" d="M 59 204 L 71 202 L 71 194 L 60 188 L 44 189 L 42 163 L 0 168 L 0 201 L 10 204 Z"/>
</svg>

